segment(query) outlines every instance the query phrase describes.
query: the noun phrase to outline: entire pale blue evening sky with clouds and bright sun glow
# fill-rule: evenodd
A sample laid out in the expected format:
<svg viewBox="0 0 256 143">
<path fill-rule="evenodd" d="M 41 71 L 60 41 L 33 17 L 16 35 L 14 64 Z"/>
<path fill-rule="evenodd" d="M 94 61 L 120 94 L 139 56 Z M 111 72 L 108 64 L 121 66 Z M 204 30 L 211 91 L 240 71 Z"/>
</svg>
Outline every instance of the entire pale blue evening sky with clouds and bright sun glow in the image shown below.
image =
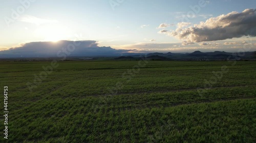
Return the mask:
<svg viewBox="0 0 256 143">
<path fill-rule="evenodd" d="M 95 52 L 256 51 L 255 0 L 0 3 L 0 54 L 52 54 L 71 41 Z"/>
</svg>

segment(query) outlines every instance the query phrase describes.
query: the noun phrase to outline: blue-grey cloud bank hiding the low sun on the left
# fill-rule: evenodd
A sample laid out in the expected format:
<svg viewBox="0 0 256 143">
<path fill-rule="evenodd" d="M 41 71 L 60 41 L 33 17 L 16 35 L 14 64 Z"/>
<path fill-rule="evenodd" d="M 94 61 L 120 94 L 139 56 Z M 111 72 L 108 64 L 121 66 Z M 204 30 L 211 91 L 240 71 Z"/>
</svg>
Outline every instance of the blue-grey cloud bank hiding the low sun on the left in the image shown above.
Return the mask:
<svg viewBox="0 0 256 143">
<path fill-rule="evenodd" d="M 96 41 L 30 42 L 15 48 L 0 51 L 0 58 L 36 57 L 36 56 L 96 56 L 118 55 L 131 50 L 118 50 L 111 47 L 99 47 Z"/>
</svg>

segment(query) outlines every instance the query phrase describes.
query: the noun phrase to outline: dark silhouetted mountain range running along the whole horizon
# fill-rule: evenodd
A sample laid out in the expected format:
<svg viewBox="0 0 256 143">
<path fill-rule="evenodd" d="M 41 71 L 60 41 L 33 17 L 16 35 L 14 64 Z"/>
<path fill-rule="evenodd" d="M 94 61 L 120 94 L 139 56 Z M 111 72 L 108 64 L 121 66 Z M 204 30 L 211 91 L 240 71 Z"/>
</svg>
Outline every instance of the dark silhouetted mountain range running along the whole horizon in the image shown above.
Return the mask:
<svg viewBox="0 0 256 143">
<path fill-rule="evenodd" d="M 121 56 L 120 56 L 121 55 Z M 3 56 L 2 56 L 3 57 Z M 8 57 L 8 56 L 7 56 Z M 4 56 L 0 60 L 14 59 L 14 61 L 51 61 L 53 59 L 61 61 L 62 58 L 56 58 L 54 56 L 40 56 L 40 57 L 13 57 L 7 58 Z M 116 61 L 135 61 L 144 57 L 153 61 L 226 61 L 226 60 L 256 60 L 256 51 L 253 52 L 201 52 L 194 51 L 192 53 L 115 53 L 113 55 L 73 55 L 68 56 L 67 61 L 80 61 L 80 60 L 116 60 Z"/>
</svg>

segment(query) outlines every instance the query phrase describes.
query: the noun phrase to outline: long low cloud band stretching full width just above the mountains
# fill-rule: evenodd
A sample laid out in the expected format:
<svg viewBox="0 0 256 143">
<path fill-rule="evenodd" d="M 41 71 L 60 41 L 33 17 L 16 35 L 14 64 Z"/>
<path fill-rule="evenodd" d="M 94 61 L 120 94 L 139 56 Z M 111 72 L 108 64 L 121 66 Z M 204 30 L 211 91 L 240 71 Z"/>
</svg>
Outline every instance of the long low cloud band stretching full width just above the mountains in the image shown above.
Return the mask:
<svg viewBox="0 0 256 143">
<path fill-rule="evenodd" d="M 95 40 L 58 42 L 29 42 L 20 44 L 7 50 L 0 51 L 0 58 L 29 58 L 29 57 L 64 57 L 64 56 L 121 56 L 123 53 L 152 53 L 152 52 L 194 52 L 200 50 L 235 52 L 245 48 L 248 51 L 256 51 L 256 41 L 235 42 L 181 42 L 181 43 L 137 43 L 131 45 L 98 46 Z M 151 40 L 150 40 L 151 41 Z M 200 47 L 199 47 L 200 46 Z M 121 48 L 121 49 L 119 49 Z"/>
</svg>

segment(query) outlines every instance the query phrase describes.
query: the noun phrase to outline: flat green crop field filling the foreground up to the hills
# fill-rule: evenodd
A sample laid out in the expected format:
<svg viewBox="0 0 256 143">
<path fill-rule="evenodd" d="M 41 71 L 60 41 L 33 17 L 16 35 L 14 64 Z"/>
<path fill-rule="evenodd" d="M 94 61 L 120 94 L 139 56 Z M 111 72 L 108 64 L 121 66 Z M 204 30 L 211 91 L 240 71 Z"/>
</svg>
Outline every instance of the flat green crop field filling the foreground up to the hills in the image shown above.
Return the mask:
<svg viewBox="0 0 256 143">
<path fill-rule="evenodd" d="M 255 61 L 57 64 L 0 62 L 0 142 L 256 140 Z"/>
</svg>

